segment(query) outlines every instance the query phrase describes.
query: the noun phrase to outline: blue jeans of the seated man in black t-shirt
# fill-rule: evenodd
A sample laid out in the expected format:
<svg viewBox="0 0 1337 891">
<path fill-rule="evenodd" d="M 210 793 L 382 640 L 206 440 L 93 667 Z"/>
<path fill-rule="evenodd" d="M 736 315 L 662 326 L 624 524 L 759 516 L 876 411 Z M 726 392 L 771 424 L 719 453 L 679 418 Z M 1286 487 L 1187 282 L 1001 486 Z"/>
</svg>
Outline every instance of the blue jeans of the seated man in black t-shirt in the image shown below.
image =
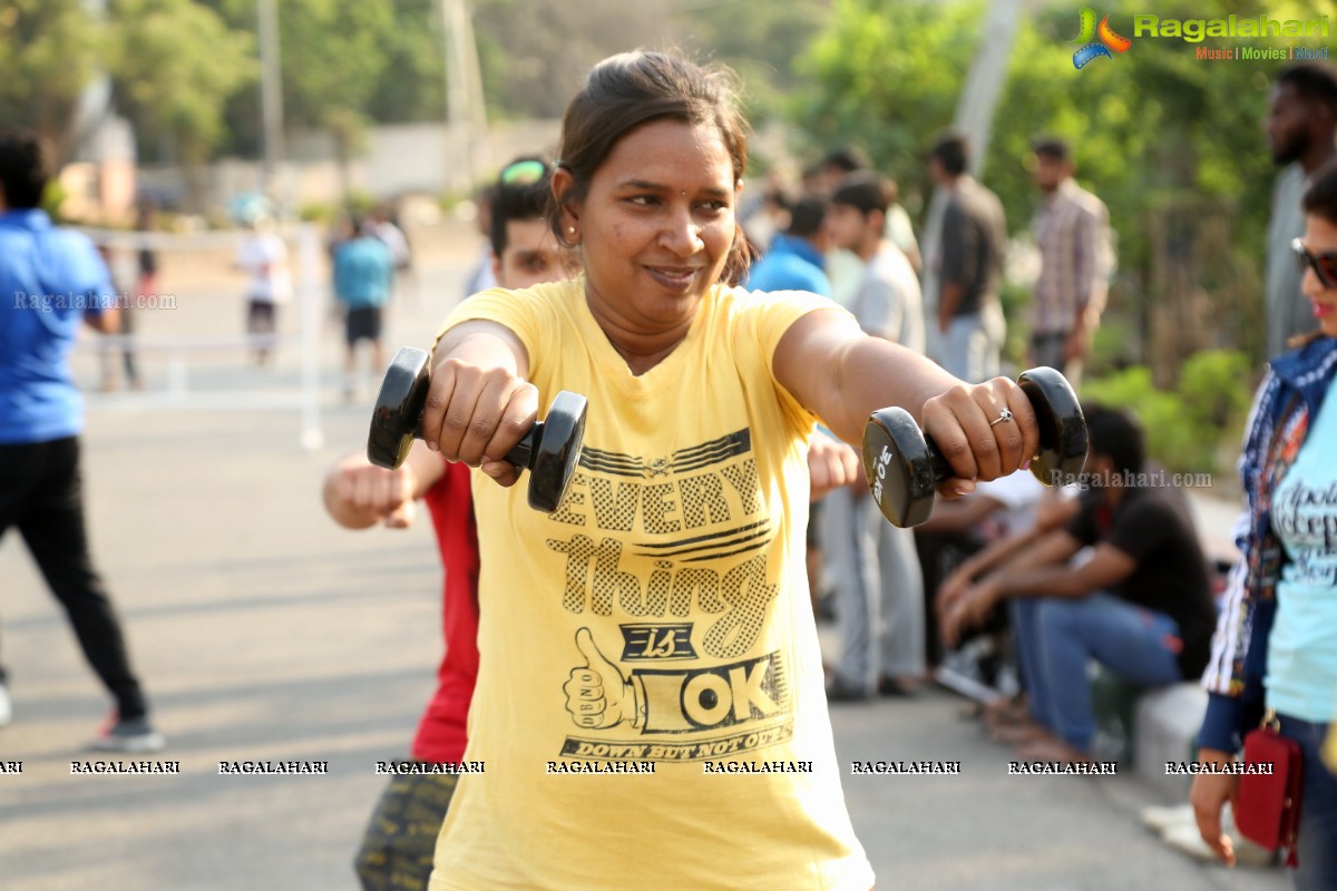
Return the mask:
<svg viewBox="0 0 1337 891">
<path fill-rule="evenodd" d="M 1015 602 L 1012 629 L 1031 715 L 1074 748 L 1088 751 L 1095 737 L 1088 660 L 1143 687 L 1182 680 L 1179 628 L 1162 612 L 1103 592 Z"/>
</svg>

